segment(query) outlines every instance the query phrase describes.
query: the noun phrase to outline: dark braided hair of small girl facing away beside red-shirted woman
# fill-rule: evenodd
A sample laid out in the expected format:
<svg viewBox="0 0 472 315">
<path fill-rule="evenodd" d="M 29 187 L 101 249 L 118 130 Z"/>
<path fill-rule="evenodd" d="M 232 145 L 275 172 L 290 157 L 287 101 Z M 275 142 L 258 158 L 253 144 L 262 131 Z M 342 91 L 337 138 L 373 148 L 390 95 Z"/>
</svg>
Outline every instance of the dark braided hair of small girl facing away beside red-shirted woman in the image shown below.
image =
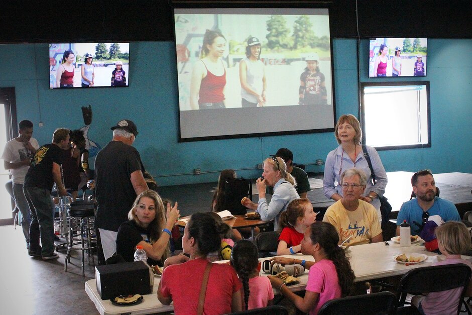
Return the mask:
<svg viewBox="0 0 472 315">
<path fill-rule="evenodd" d="M 256 245 L 248 240 L 236 242 L 231 251 L 231 265 L 243 282 L 246 309 L 248 309 L 250 294 L 249 276 L 257 269 L 258 257 Z"/>
</svg>

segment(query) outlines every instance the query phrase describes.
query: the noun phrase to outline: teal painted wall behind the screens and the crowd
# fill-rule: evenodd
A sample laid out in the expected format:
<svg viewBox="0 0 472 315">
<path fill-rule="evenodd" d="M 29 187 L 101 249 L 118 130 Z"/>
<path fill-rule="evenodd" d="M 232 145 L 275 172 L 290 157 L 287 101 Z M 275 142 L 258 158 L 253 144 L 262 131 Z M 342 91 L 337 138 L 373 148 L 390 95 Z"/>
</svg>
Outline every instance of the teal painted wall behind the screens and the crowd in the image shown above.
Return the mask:
<svg viewBox="0 0 472 315">
<path fill-rule="evenodd" d="M 360 43 L 362 81 L 373 80 L 367 78 L 368 45 L 367 40 Z M 357 40 L 334 39 L 333 52 L 336 116 L 357 115 Z M 216 181 L 224 168 L 244 169 L 238 175 L 257 177 L 261 171 L 256 165 L 280 147 L 290 148 L 295 162 L 314 163 L 324 160 L 337 145 L 332 133 L 178 143 L 174 44 L 136 42 L 131 44 L 130 53 L 128 88 L 50 90 L 47 44 L 0 45 L 0 86 L 15 87 L 18 120 L 33 121 L 34 137 L 40 144 L 50 142 L 58 127 L 82 127 L 81 107 L 88 104 L 93 110 L 89 138 L 101 146 L 111 139 L 109 128 L 117 121 L 133 120 L 139 131 L 134 146 L 160 185 Z M 430 81 L 431 88 L 432 147 L 381 151 L 387 171 L 428 167 L 435 173 L 472 172 L 471 55 L 470 40 L 428 41 L 425 80 Z M 41 128 L 40 120 L 44 123 Z M 379 132 L 383 132 L 382 122 Z M 186 175 L 194 168 L 200 168 L 202 174 Z M 323 167 L 308 165 L 307 171 L 322 172 Z"/>
</svg>

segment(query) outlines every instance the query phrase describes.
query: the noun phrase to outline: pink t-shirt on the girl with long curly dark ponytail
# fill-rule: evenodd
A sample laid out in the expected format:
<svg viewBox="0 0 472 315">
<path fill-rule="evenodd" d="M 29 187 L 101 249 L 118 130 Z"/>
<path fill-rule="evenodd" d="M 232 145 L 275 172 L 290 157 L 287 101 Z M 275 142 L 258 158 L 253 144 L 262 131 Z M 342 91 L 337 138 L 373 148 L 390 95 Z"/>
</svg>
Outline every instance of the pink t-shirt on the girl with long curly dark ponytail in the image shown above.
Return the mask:
<svg viewBox="0 0 472 315">
<path fill-rule="evenodd" d="M 318 304 L 310 310 L 310 315 L 318 314 L 321 306 L 327 301 L 341 297 L 336 267 L 331 260 L 322 259 L 310 268 L 306 290 L 319 293 Z"/>
</svg>

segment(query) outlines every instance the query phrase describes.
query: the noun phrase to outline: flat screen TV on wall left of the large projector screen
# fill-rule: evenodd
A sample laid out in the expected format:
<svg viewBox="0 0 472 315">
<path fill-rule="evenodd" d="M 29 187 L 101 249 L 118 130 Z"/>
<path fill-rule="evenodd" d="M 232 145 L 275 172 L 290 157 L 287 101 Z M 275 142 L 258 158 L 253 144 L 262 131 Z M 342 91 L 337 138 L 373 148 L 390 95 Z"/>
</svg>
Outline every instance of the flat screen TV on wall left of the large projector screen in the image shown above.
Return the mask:
<svg viewBox="0 0 472 315">
<path fill-rule="evenodd" d="M 130 43 L 49 44 L 51 89 L 128 86 L 129 69 Z"/>
</svg>

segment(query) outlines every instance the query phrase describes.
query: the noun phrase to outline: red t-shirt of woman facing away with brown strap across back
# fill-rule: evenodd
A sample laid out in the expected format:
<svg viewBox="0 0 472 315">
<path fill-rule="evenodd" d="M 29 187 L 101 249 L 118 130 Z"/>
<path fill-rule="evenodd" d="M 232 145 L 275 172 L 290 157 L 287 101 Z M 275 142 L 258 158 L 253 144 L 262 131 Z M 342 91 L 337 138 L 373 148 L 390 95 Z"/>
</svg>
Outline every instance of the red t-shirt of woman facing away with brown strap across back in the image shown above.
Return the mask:
<svg viewBox="0 0 472 315">
<path fill-rule="evenodd" d="M 161 277 L 161 293 L 172 296 L 176 314 L 196 314 L 206 259 L 192 259 L 164 269 Z M 208 278 L 203 313 L 226 314 L 231 312 L 232 294 L 241 289 L 242 283 L 234 268 L 228 264 L 213 264 Z"/>
</svg>

